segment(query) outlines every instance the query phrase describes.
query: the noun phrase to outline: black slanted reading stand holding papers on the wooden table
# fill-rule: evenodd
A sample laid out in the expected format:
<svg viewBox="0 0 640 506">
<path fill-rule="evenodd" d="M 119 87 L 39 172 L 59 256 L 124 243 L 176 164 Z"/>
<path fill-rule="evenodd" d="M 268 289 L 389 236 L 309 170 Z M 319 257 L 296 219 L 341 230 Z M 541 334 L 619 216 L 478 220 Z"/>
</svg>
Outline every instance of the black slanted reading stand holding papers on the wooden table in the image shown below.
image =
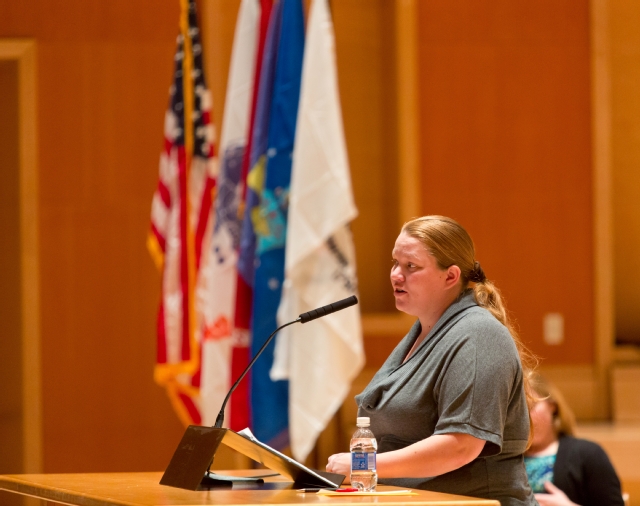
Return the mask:
<svg viewBox="0 0 640 506">
<path fill-rule="evenodd" d="M 293 481 L 293 488 L 337 488 L 345 478 L 341 474 L 309 469 L 291 457 L 261 443 L 250 434 L 242 435 L 231 429 L 190 425 L 182 436 L 160 484 L 187 490 L 207 490 L 230 487 L 234 482 L 263 483 L 261 479 L 220 476 L 208 472 L 220 444 L 233 448 L 289 478 Z"/>
</svg>

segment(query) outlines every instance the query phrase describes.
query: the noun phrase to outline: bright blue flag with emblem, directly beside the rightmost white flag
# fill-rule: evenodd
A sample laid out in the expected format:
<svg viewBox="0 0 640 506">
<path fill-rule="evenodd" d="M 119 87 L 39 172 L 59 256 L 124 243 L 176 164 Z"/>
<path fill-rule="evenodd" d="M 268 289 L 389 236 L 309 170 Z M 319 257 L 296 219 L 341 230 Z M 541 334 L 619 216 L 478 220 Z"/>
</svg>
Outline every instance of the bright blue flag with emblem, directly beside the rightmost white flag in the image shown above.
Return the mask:
<svg viewBox="0 0 640 506">
<path fill-rule="evenodd" d="M 284 279 L 291 160 L 304 53 L 302 1 L 279 3 L 281 30 L 269 107 L 267 151 L 260 178 L 262 188 L 256 192 L 259 204 L 251 213 L 256 237 L 252 355 L 278 325 L 276 314 Z M 289 382 L 272 381 L 269 377 L 274 347 L 272 342 L 252 371 L 252 425 L 259 440 L 283 448 L 289 444 Z"/>
</svg>

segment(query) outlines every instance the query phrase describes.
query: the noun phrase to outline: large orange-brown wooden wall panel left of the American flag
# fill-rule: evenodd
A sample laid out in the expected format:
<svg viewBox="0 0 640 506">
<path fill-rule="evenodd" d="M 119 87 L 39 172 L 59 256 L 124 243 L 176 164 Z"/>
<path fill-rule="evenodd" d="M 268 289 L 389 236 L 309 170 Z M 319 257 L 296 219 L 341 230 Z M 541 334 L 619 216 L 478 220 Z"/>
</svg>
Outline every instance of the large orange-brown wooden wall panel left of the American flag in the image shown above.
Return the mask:
<svg viewBox="0 0 640 506">
<path fill-rule="evenodd" d="M 46 472 L 162 469 L 182 433 L 145 249 L 177 24 L 172 0 L 3 6 L 0 36 L 39 46 Z"/>
</svg>

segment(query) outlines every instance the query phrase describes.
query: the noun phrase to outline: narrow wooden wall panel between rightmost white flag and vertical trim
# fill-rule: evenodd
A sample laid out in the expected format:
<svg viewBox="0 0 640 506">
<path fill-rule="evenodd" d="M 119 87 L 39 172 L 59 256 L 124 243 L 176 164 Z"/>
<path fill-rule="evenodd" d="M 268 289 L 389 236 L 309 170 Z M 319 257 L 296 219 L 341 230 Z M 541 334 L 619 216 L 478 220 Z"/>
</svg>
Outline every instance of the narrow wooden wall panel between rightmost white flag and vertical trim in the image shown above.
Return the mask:
<svg viewBox="0 0 640 506">
<path fill-rule="evenodd" d="M 389 288 L 398 230 L 393 2 L 331 3 L 340 98 L 359 216 L 353 222 L 363 312 L 395 311 Z"/>
</svg>

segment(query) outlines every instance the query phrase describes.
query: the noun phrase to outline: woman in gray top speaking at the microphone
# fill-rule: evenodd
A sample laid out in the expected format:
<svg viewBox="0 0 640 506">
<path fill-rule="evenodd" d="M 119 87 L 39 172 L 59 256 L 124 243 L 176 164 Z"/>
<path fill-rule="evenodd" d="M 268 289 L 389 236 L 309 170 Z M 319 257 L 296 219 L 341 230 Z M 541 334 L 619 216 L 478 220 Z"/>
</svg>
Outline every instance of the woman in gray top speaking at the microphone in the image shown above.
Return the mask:
<svg viewBox="0 0 640 506">
<path fill-rule="evenodd" d="M 537 504 L 523 463 L 533 358 L 471 237 L 450 218 L 417 218 L 392 261 L 396 308 L 417 321 L 356 396 L 378 440 L 379 481 Z M 327 471 L 348 476 L 350 454 L 332 455 Z"/>
</svg>

